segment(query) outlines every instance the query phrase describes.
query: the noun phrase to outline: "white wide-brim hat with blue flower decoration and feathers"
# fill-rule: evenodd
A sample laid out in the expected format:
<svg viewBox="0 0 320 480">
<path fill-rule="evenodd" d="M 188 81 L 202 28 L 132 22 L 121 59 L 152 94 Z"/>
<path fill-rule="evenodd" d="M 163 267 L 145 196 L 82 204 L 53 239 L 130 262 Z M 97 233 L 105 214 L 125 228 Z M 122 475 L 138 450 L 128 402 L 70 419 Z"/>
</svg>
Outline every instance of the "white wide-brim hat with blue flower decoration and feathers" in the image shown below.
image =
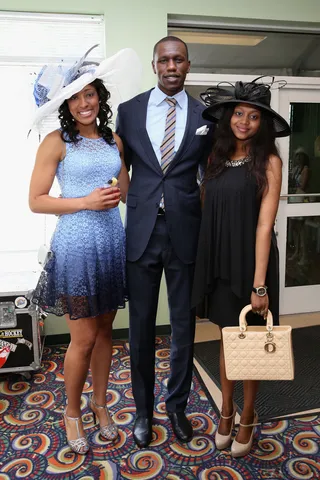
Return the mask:
<svg viewBox="0 0 320 480">
<path fill-rule="evenodd" d="M 63 102 L 99 78 L 110 92 L 110 106 L 116 111 L 119 103 L 140 92 L 142 66 L 131 48 L 120 50 L 100 64 L 86 60 L 94 45 L 74 65 L 45 65 L 34 84 L 34 98 L 38 109 L 31 129 L 41 129 L 43 120 L 57 112 Z"/>
</svg>

